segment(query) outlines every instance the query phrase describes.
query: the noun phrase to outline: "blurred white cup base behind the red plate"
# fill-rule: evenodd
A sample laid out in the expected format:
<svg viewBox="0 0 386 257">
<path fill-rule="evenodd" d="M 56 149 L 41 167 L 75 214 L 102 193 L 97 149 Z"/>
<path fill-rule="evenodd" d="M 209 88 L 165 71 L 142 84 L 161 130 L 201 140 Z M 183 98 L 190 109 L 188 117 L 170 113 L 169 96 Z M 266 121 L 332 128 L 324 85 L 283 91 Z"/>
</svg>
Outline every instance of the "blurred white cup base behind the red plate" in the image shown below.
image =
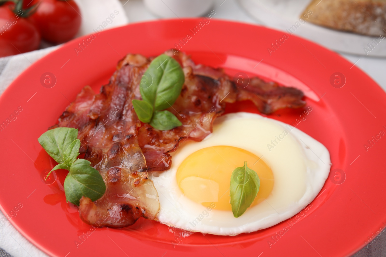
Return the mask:
<svg viewBox="0 0 386 257">
<path fill-rule="evenodd" d="M 147 9 L 162 18 L 196 17 L 207 13 L 214 0 L 144 0 Z"/>
</svg>

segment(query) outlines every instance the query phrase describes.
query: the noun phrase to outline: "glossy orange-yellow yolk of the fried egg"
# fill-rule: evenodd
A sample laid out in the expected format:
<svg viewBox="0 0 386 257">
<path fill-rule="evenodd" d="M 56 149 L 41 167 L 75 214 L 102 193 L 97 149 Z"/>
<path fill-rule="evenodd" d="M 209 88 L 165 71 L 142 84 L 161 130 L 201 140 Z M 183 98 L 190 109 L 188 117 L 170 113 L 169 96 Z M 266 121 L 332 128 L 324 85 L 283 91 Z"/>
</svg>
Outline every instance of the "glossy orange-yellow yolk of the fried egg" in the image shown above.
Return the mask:
<svg viewBox="0 0 386 257">
<path fill-rule="evenodd" d="M 264 201 L 273 188 L 273 173 L 261 158 L 233 146 L 213 146 L 189 155 L 177 169 L 177 183 L 184 195 L 205 207 L 232 211 L 229 186 L 235 168 L 244 166 L 256 171 L 259 192 L 251 207 Z"/>
</svg>

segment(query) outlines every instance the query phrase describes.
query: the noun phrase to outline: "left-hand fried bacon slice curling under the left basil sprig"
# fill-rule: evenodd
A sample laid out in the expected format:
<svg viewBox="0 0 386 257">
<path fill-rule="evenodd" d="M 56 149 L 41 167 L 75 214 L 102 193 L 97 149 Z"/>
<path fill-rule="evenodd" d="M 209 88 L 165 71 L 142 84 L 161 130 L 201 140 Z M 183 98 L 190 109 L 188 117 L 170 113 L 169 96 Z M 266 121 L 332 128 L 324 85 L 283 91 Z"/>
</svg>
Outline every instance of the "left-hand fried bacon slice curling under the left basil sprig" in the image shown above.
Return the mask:
<svg viewBox="0 0 386 257">
<path fill-rule="evenodd" d="M 79 129 L 80 151 L 105 181 L 102 198 L 80 200 L 80 217 L 90 225 L 126 227 L 158 213 L 158 194 L 138 145 L 141 122 L 131 103 L 141 97 L 139 80 L 148 64 L 142 55 L 128 55 L 100 94 L 83 88 L 56 125 Z"/>
</svg>

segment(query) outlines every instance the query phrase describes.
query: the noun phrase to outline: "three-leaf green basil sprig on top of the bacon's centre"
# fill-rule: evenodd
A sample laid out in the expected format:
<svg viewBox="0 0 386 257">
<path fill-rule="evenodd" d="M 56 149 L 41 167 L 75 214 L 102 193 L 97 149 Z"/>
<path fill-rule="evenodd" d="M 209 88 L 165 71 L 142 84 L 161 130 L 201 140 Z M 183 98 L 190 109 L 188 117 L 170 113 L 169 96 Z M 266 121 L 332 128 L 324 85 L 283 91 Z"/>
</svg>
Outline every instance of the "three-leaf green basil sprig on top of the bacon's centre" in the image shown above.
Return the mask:
<svg viewBox="0 0 386 257">
<path fill-rule="evenodd" d="M 181 126 L 181 121 L 165 109 L 174 104 L 184 82 L 184 72 L 172 57 L 161 54 L 152 60 L 139 87 L 143 100 L 132 100 L 139 120 L 159 130 Z"/>
</svg>

